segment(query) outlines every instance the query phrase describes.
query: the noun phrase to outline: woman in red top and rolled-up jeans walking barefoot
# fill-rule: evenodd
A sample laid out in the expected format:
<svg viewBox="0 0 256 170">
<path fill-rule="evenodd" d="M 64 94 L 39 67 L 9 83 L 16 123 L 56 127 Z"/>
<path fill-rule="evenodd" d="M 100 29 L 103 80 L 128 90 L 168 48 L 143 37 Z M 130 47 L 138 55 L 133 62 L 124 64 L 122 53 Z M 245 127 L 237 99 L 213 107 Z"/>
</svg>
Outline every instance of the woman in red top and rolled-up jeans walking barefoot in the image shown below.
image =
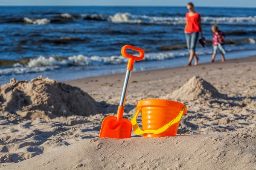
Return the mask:
<svg viewBox="0 0 256 170">
<path fill-rule="evenodd" d="M 195 58 L 195 65 L 198 65 L 198 57 L 195 54 L 195 45 L 198 40 L 198 34 L 201 32 L 201 37 L 204 40 L 203 32 L 201 28 L 201 16 L 198 12 L 195 12 L 194 4 L 188 3 L 187 9 L 189 10 L 186 13 L 186 26 L 185 26 L 185 36 L 188 51 L 190 52 L 189 62 L 186 66 L 190 66 L 193 57 Z"/>
</svg>

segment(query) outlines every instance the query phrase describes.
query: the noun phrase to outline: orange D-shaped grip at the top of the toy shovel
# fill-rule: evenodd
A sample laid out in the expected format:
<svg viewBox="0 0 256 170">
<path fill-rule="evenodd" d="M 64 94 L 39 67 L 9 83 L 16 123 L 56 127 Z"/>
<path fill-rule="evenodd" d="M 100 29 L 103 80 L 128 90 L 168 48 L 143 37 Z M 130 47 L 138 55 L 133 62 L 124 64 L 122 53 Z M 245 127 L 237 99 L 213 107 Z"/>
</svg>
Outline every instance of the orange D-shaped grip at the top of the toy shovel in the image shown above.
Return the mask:
<svg viewBox="0 0 256 170">
<path fill-rule="evenodd" d="M 140 53 L 140 56 L 137 57 L 137 56 L 134 56 L 134 55 L 131 55 L 131 54 L 127 54 L 127 52 L 126 52 L 127 48 L 130 49 L 130 50 L 138 51 Z M 142 48 L 134 47 L 132 45 L 123 46 L 122 50 L 121 50 L 121 54 L 122 54 L 123 57 L 129 58 L 126 70 L 131 70 L 131 71 L 133 70 L 135 60 L 140 61 L 145 56 L 145 52 Z"/>
</svg>

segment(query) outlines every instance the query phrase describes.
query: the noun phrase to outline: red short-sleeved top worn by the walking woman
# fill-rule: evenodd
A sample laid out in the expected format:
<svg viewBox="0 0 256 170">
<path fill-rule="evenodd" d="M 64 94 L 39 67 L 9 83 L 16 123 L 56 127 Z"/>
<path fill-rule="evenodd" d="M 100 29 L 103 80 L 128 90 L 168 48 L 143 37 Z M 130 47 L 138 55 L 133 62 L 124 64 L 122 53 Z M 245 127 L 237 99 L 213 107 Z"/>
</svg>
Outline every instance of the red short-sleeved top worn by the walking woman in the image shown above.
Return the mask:
<svg viewBox="0 0 256 170">
<path fill-rule="evenodd" d="M 201 23 L 201 15 L 199 13 L 195 13 L 193 16 L 189 16 L 189 13 L 186 13 L 186 32 L 199 32 L 200 31 L 200 23 Z"/>
</svg>

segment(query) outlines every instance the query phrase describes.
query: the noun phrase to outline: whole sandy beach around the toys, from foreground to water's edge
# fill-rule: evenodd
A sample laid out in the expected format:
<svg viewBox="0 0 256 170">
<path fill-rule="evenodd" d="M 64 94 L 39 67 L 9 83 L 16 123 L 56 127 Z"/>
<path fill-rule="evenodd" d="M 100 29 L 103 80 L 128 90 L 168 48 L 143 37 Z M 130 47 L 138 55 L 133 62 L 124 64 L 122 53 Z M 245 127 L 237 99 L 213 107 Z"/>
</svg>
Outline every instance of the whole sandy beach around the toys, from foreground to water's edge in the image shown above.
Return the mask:
<svg viewBox="0 0 256 170">
<path fill-rule="evenodd" d="M 125 118 L 141 99 L 171 99 L 188 107 L 179 134 L 210 134 L 157 139 L 97 138 L 104 117 L 116 112 L 123 74 L 66 82 L 79 88 L 12 79 L 0 88 L 0 167 L 255 170 L 255 68 L 256 57 L 248 57 L 133 73 Z"/>
</svg>

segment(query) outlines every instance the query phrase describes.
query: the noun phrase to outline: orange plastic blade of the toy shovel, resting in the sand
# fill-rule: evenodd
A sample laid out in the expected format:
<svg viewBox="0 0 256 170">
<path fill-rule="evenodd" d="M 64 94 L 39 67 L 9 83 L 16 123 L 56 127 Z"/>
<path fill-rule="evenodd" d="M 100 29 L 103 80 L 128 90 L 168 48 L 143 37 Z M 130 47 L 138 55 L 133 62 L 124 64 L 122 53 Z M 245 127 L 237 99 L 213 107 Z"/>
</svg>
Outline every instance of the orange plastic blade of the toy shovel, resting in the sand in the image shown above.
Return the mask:
<svg viewBox="0 0 256 170">
<path fill-rule="evenodd" d="M 108 116 L 102 122 L 102 127 L 99 133 L 100 138 L 115 138 L 115 139 L 124 139 L 131 138 L 132 125 L 128 119 L 123 119 L 119 126 L 115 129 L 113 124 L 116 124 L 116 116 Z"/>
</svg>

